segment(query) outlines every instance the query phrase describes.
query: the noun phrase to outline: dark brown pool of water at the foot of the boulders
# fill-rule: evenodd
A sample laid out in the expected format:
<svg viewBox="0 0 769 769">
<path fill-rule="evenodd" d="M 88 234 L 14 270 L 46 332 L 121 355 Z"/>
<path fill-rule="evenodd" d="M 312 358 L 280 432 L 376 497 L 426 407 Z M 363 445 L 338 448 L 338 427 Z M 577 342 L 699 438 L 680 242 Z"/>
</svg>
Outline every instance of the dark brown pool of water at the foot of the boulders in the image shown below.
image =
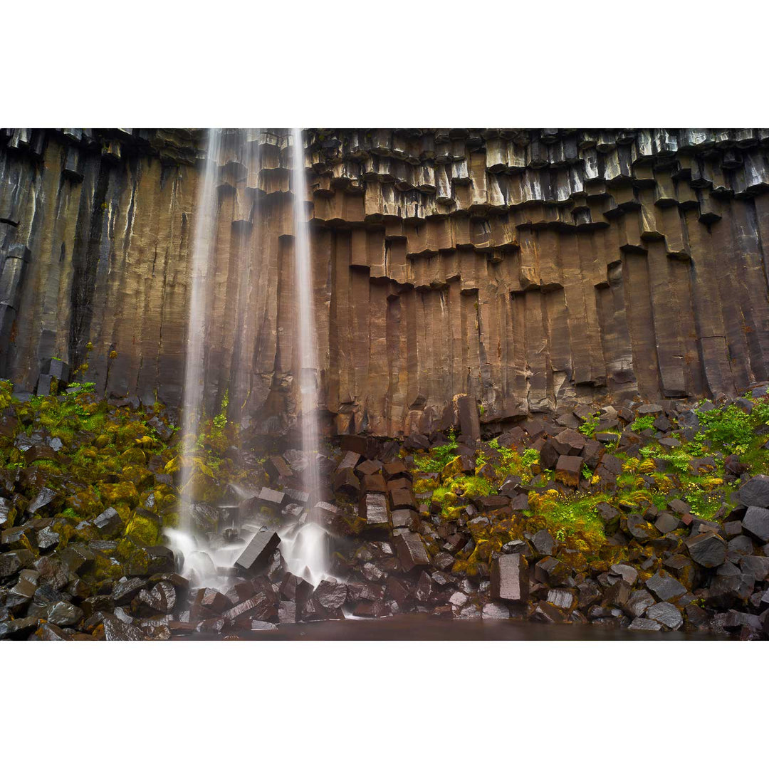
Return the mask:
<svg viewBox="0 0 769 769">
<path fill-rule="evenodd" d="M 235 634 L 228 636 L 233 638 Z M 283 624 L 276 630 L 238 631 L 243 641 L 724 641 L 706 633 L 608 630 L 593 625 L 548 625 L 521 620 L 451 620 L 405 614 L 375 620 Z M 195 634 L 179 641 L 213 641 Z"/>
</svg>

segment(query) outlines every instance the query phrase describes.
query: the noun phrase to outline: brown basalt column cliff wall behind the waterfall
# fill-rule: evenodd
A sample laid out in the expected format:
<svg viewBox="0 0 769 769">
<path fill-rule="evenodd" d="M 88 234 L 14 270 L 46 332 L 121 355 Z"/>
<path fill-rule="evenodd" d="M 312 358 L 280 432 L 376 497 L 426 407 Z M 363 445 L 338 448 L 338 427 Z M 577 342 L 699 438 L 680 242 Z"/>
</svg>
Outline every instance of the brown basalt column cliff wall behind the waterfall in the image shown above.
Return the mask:
<svg viewBox="0 0 769 769">
<path fill-rule="evenodd" d="M 228 141 L 220 158 L 205 392 L 274 431 L 297 400 L 293 148 L 285 129 L 247 139 L 248 158 Z M 180 402 L 204 144 L 0 130 L 0 376 Z M 305 131 L 331 430 L 427 434 L 459 424 L 457 394 L 489 422 L 766 380 L 767 144 L 764 129 Z"/>
</svg>

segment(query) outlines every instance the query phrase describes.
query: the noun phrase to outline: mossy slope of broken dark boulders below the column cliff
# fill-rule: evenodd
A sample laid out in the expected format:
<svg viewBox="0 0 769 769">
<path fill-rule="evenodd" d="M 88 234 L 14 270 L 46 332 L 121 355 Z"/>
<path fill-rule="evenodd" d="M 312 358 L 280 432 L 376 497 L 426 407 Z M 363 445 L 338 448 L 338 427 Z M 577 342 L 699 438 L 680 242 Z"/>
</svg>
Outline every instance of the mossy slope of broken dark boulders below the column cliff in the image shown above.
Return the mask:
<svg viewBox="0 0 769 769">
<path fill-rule="evenodd" d="M 0 384 L 0 638 L 237 638 L 407 612 L 769 634 L 766 387 L 562 410 L 494 436 L 459 396 L 436 434 L 326 442 L 310 508 L 304 455 L 238 434 L 226 404 L 182 438 L 162 404 L 50 386 Z M 245 548 L 221 590 L 191 589 L 164 538 L 182 440 L 198 541 Z M 315 588 L 279 548 L 306 520 L 328 532 L 335 574 Z"/>
</svg>

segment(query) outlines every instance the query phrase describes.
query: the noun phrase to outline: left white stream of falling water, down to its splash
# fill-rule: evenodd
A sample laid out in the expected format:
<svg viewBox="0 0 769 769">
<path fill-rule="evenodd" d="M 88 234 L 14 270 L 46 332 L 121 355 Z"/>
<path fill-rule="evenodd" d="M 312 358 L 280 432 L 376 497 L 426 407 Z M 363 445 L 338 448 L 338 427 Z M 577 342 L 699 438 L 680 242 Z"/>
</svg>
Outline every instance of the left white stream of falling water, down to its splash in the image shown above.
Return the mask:
<svg viewBox="0 0 769 769">
<path fill-rule="evenodd" d="M 198 196 L 195 233 L 192 240 L 190 301 L 185 355 L 185 389 L 182 402 L 182 425 L 185 438 L 181 454 L 181 515 L 180 525 L 191 531 L 192 476 L 195 457 L 195 436 L 200 428 L 203 409 L 204 342 L 206 332 L 206 303 L 208 278 L 214 259 L 217 220 L 217 182 L 221 129 L 209 128 L 205 153 L 203 187 Z"/>
</svg>

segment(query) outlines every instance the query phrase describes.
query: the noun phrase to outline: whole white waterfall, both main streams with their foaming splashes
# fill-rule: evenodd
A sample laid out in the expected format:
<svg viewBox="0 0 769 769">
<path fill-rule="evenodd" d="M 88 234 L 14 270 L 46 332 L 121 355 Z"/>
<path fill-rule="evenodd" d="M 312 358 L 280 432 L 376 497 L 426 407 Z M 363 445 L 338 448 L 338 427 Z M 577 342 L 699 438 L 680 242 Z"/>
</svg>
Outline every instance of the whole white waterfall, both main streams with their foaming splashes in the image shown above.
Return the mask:
<svg viewBox="0 0 769 769">
<path fill-rule="evenodd" d="M 193 460 L 196 455 L 195 436 L 201 425 L 204 410 L 205 338 L 208 327 L 208 297 L 210 281 L 215 271 L 215 241 L 218 219 L 218 185 L 223 155 L 236 158 L 251 173 L 255 159 L 248 130 L 235 132 L 235 146 L 223 148 L 223 131 L 208 131 L 205 170 L 201 192 L 197 201 L 195 233 L 191 256 L 191 294 L 188 316 L 188 339 L 185 365 L 185 390 L 183 424 L 185 441 L 182 448 L 181 471 L 181 521 L 180 528 L 168 529 L 171 548 L 183 559 L 182 574 L 191 578 L 195 587 L 224 589 L 231 581 L 231 567 L 235 564 L 246 544 L 265 521 L 252 515 L 249 521 L 241 521 L 240 536 L 229 544 L 221 537 L 211 536 L 208 541 L 196 536 L 193 520 L 194 505 Z M 227 138 L 231 138 L 229 135 Z M 312 296 L 312 265 L 310 237 L 306 209 L 305 155 L 301 128 L 291 132 L 292 162 L 291 191 L 293 192 L 293 220 L 295 235 L 295 373 L 298 392 L 301 395 L 301 449 L 305 462 L 301 470 L 301 484 L 309 494 L 310 508 L 319 498 L 318 478 L 318 355 L 315 339 L 315 315 Z M 223 151 L 226 150 L 226 151 Z M 248 187 L 248 181 L 247 185 Z M 253 211 L 252 221 L 258 226 L 258 215 Z M 258 244 L 259 233 L 255 233 Z M 238 253 L 241 279 L 238 286 L 238 328 L 235 330 L 235 369 L 233 390 L 238 395 L 248 392 L 248 355 L 253 349 L 253 319 L 248 318 L 248 293 L 255 286 L 259 265 L 247 251 L 248 238 L 241 238 Z M 258 249 L 258 246 L 257 246 Z M 236 418 L 246 424 L 248 414 L 241 414 L 243 404 L 235 404 Z M 231 488 L 233 488 L 231 486 Z M 235 487 L 236 488 L 236 487 Z M 248 492 L 238 490 L 240 501 L 248 498 Z M 288 571 L 318 584 L 328 573 L 328 534 L 317 522 L 302 518 L 301 522 L 284 524 L 279 529 L 281 556 Z"/>
</svg>

